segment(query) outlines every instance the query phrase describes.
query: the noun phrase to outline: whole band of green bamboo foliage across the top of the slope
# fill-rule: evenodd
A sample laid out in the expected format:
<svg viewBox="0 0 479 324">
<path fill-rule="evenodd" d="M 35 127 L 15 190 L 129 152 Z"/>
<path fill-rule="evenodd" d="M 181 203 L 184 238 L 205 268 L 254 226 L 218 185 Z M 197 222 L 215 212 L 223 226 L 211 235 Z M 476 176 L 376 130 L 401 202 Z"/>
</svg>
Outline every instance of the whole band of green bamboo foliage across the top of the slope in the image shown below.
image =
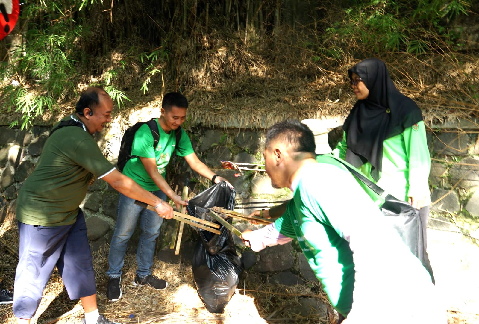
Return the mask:
<svg viewBox="0 0 479 324">
<path fill-rule="evenodd" d="M 220 44 L 214 37 L 209 40 L 208 33 L 228 28 L 242 35 L 244 26 L 254 26 L 267 48 L 269 41 L 276 41 L 268 37 L 279 32 L 281 25 L 293 27 L 297 15 L 288 12 L 295 1 L 279 1 L 279 8 L 275 1 L 263 1 L 253 17 L 246 0 L 236 1 L 236 10 L 231 11 L 222 1 L 199 1 L 194 10 L 190 2 L 140 0 L 128 6 L 125 1 L 26 1 L 14 33 L 19 36 L 14 44 L 5 44 L 7 60 L 0 63 L 2 112 L 17 112 L 19 120 L 12 125 L 28 127 L 35 116 L 75 98 L 78 85 L 91 80 L 103 86 L 120 108 L 129 100 L 125 91 L 146 94 L 152 82 L 163 82 L 165 72 L 169 80 L 178 73 L 175 89 L 181 91 L 190 86 L 181 80 L 184 71 L 176 69 L 184 62 L 183 52 L 198 54 L 194 46 L 198 51 L 215 51 Z M 311 5 L 322 2 L 311 1 Z M 321 4 L 326 9 L 308 13 L 315 19 L 317 33 L 314 40 L 304 37 L 303 44 L 312 50 L 312 60 L 326 58 L 331 65 L 366 53 L 380 56 L 401 51 L 419 56 L 463 46 L 457 41 L 460 31 L 449 29 L 448 24 L 468 14 L 472 0 L 345 0 L 342 7 L 336 3 Z M 276 9 L 278 14 L 272 14 Z M 247 19 L 255 23 L 246 23 Z M 312 25 L 304 26 L 312 30 Z M 254 30 L 249 34 L 253 39 Z M 173 51 L 179 55 L 174 62 Z"/>
</svg>

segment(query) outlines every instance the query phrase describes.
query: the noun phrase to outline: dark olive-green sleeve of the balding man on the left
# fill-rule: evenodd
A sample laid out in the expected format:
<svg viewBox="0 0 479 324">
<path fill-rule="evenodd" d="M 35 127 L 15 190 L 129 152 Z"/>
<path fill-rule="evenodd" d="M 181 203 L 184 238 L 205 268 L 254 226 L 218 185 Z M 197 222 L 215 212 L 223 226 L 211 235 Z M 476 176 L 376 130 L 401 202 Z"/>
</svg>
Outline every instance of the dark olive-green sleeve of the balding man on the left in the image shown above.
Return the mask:
<svg viewBox="0 0 479 324">
<path fill-rule="evenodd" d="M 111 171 L 114 166 L 103 156 L 93 138 L 81 140 L 74 150 L 72 160 L 94 176 L 101 176 Z"/>
</svg>

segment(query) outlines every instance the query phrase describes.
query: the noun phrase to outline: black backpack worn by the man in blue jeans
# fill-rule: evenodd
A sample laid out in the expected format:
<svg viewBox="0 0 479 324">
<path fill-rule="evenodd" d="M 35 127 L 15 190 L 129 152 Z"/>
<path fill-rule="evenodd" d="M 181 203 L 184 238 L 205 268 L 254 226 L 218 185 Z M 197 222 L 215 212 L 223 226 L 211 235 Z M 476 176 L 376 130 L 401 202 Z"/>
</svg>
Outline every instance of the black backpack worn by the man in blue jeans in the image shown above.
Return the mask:
<svg viewBox="0 0 479 324">
<path fill-rule="evenodd" d="M 120 152 L 118 153 L 118 162 L 116 162 L 116 167 L 118 171 L 123 172 L 123 168 L 128 160 L 132 158 L 137 158 L 136 155 L 131 155 L 131 146 L 133 145 L 133 138 L 135 137 L 135 133 L 137 132 L 138 128 L 140 128 L 143 124 L 147 124 L 150 127 L 151 135 L 153 135 L 153 147 L 156 148 L 158 145 L 158 141 L 160 140 L 160 131 L 158 129 L 158 123 L 155 120 L 156 118 L 151 118 L 147 122 L 138 122 L 132 127 L 125 130 L 125 134 L 121 139 L 121 146 Z M 181 127 L 178 127 L 175 130 L 176 135 L 176 148 L 178 148 L 178 143 L 180 142 L 181 138 Z"/>
</svg>

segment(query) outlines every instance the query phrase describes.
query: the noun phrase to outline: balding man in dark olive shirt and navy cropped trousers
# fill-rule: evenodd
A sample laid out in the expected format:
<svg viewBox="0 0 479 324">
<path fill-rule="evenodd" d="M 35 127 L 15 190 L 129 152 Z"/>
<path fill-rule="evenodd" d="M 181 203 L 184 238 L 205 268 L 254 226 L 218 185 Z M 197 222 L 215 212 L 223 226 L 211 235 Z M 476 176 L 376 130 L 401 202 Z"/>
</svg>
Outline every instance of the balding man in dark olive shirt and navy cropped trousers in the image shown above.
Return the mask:
<svg viewBox="0 0 479 324">
<path fill-rule="evenodd" d="M 111 121 L 112 110 L 113 100 L 103 89 L 92 87 L 81 94 L 76 113 L 55 125 L 38 165 L 19 192 L 20 245 L 13 301 L 18 323 L 30 323 L 55 266 L 70 299 L 81 301 L 83 324 L 113 323 L 98 312 L 87 228 L 79 208 L 95 177 L 127 197 L 155 206 L 157 218 L 173 217 L 169 204 L 118 172 L 93 139 L 92 134 Z"/>
</svg>

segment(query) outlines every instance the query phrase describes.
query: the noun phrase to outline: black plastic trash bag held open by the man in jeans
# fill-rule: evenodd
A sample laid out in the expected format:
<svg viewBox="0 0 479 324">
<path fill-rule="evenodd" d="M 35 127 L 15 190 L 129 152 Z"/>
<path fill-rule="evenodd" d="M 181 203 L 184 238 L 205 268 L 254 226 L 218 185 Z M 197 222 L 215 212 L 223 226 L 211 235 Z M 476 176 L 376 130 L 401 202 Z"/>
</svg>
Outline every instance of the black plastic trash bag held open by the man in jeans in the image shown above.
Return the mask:
<svg viewBox="0 0 479 324">
<path fill-rule="evenodd" d="M 235 194 L 234 189 L 220 182 L 191 199 L 187 208 L 195 217 L 214 206 L 233 209 Z M 223 226 L 220 231 L 219 235 L 199 231 L 201 239 L 193 252 L 194 284 L 206 309 L 213 313 L 224 311 L 243 271 L 231 232 Z"/>
</svg>

